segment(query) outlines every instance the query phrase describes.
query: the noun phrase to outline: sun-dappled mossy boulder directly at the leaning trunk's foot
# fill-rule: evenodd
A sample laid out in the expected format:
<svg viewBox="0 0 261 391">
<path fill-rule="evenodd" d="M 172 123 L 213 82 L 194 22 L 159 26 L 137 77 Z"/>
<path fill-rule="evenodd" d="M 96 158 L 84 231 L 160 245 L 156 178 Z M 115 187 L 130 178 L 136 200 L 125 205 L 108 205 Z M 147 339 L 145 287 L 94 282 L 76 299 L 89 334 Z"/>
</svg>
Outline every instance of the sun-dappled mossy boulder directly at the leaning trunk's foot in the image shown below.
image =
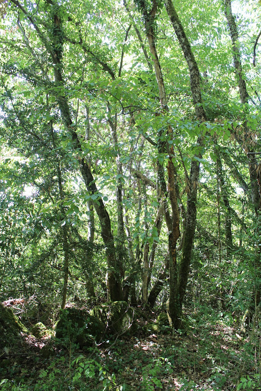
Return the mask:
<svg viewBox="0 0 261 391">
<path fill-rule="evenodd" d="M 126 301 L 111 301 L 97 305 L 90 313 L 106 325 L 107 334 L 135 330 L 135 312 Z"/>
</svg>

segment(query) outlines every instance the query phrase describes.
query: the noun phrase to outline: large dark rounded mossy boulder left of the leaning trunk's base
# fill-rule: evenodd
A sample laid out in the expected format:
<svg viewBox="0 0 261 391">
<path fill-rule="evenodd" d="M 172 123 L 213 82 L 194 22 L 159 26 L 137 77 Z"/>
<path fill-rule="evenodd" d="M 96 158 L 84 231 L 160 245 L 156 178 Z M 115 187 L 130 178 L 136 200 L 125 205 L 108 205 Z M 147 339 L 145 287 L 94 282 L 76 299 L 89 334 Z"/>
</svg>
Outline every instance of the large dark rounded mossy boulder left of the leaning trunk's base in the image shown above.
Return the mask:
<svg viewBox="0 0 261 391">
<path fill-rule="evenodd" d="M 87 311 L 66 308 L 61 311 L 56 325 L 56 339 L 62 341 L 63 345 L 74 343 L 84 348 L 98 342 L 104 328 L 104 324 Z"/>
</svg>

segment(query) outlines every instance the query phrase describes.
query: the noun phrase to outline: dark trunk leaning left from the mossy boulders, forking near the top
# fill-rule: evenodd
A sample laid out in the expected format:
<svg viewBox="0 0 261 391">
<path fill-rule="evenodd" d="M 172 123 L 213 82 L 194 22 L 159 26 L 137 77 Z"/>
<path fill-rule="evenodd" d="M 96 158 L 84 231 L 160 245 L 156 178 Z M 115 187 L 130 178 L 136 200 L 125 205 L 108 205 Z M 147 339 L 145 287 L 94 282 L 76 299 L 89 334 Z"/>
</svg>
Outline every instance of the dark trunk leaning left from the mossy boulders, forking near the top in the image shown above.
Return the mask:
<svg viewBox="0 0 261 391">
<path fill-rule="evenodd" d="M 39 28 L 36 19 L 21 5 L 17 0 L 11 0 L 11 2 L 24 13 L 25 17 L 29 22 L 34 26 L 36 33 L 38 34 L 41 42 L 46 47 L 47 52 L 50 54 L 53 64 L 54 79 L 55 84 L 58 87 L 63 87 L 65 85 L 63 80 L 63 31 L 62 31 L 62 19 L 61 15 L 63 13 L 59 12 L 59 9 L 56 4 L 48 2 L 49 7 L 49 17 L 50 17 L 50 33 L 49 36 L 45 36 L 44 33 Z M 105 64 L 106 65 L 106 64 Z M 103 68 L 105 69 L 105 65 Z M 107 67 L 108 68 L 108 67 Z M 106 70 L 108 70 L 106 68 Z M 110 69 L 108 70 L 110 71 Z M 80 153 L 82 156 L 83 150 L 81 147 L 80 139 L 76 133 L 75 125 L 73 124 L 71 111 L 69 107 L 68 97 L 66 95 L 57 96 L 58 106 L 61 112 L 61 117 L 63 124 L 66 129 L 71 133 L 73 148 L 76 153 Z M 83 176 L 84 182 L 88 191 L 91 194 L 97 194 L 97 187 L 95 185 L 94 177 L 89 168 L 86 158 L 79 157 L 80 171 Z M 103 204 L 102 199 L 100 198 L 97 202 L 94 203 L 96 213 L 99 218 L 101 226 L 101 236 L 106 248 L 106 257 L 107 257 L 107 291 L 109 299 L 115 301 L 122 299 L 122 289 L 120 281 L 120 265 L 118 264 L 115 252 L 114 237 L 111 230 L 111 221 L 109 214 L 106 210 L 105 205 Z"/>
</svg>

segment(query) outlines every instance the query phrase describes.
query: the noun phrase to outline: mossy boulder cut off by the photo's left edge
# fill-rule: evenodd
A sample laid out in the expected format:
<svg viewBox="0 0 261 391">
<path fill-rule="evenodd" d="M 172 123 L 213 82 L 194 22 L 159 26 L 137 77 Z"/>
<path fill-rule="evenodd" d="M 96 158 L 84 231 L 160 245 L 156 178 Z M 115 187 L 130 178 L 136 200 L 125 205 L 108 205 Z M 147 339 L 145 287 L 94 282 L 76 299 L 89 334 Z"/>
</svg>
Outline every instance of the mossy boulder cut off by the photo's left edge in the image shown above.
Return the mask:
<svg viewBox="0 0 261 391">
<path fill-rule="evenodd" d="M 13 346 L 22 344 L 21 331 L 28 333 L 27 328 L 12 310 L 0 303 L 0 353 L 5 354 Z"/>
</svg>

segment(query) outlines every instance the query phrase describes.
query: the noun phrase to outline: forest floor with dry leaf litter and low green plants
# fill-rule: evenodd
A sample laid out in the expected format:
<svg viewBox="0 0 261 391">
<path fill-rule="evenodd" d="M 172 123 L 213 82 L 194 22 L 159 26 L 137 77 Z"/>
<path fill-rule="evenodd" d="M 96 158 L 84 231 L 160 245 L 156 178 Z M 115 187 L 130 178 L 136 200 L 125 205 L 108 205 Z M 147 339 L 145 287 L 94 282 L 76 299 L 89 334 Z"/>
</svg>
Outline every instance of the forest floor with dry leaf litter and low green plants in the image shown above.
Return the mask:
<svg viewBox="0 0 261 391">
<path fill-rule="evenodd" d="M 202 307 L 187 316 L 186 330 L 145 328 L 157 314 L 138 320 L 143 331 L 80 350 L 55 338 L 24 335 L 0 368 L 6 391 L 261 390 L 257 331 L 240 334 L 232 314 Z M 149 320 L 149 322 L 148 322 Z M 153 328 L 153 327 L 152 327 Z M 147 330 L 144 332 L 144 330 Z"/>
</svg>

